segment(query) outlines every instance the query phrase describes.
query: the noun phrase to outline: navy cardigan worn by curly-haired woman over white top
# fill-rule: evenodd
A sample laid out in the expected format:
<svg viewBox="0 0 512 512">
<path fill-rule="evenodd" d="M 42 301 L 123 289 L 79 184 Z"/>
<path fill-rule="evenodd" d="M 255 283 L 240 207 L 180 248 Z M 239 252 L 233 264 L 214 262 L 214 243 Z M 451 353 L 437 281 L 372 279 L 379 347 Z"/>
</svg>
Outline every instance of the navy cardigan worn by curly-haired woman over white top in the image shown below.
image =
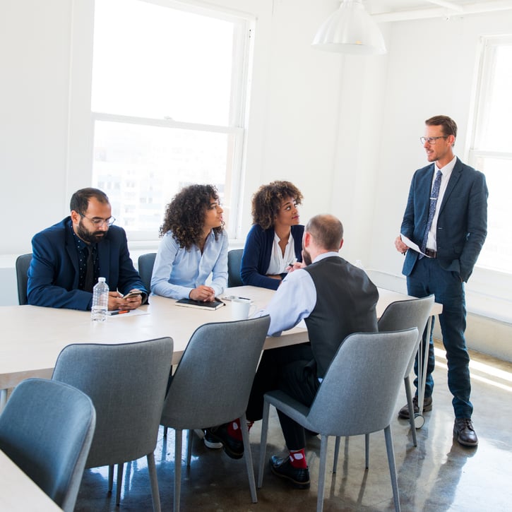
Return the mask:
<svg viewBox="0 0 512 512">
<path fill-rule="evenodd" d="M 266 276 L 270 257 L 272 256 L 274 234 L 273 227 L 263 230 L 258 224 L 254 224 L 249 230 L 240 266 L 240 277 L 244 285 L 259 286 L 261 288 L 269 288 L 270 290 L 278 289 L 280 280 Z M 304 226 L 302 224 L 292 226 L 292 237 L 297 261 L 302 261 L 302 234 L 304 234 Z"/>
</svg>

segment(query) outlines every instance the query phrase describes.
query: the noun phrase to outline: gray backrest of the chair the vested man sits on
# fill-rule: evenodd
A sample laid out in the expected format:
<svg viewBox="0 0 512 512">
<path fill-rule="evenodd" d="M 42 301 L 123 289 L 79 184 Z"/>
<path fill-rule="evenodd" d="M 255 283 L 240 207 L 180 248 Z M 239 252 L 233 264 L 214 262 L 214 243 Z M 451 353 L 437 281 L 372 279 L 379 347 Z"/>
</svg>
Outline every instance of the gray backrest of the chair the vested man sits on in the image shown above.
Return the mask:
<svg viewBox="0 0 512 512">
<path fill-rule="evenodd" d="M 309 410 L 314 431 L 352 436 L 388 427 L 417 339 L 417 328 L 347 336 Z"/>
</svg>

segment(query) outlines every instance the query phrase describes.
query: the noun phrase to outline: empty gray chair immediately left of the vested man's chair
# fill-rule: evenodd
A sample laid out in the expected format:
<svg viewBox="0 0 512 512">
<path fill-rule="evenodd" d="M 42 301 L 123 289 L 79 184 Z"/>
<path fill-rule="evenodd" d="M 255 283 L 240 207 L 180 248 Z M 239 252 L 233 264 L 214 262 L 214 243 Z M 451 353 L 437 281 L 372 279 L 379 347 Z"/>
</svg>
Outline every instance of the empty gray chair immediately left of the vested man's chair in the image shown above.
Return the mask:
<svg viewBox="0 0 512 512">
<path fill-rule="evenodd" d="M 162 412 L 162 425 L 176 430 L 174 448 L 174 511 L 179 511 L 181 437 L 185 429 L 215 427 L 239 418 L 251 498 L 256 503 L 245 410 L 263 350 L 270 317 L 206 323 L 196 329 L 172 376 Z M 187 466 L 191 460 L 191 440 Z"/>
</svg>

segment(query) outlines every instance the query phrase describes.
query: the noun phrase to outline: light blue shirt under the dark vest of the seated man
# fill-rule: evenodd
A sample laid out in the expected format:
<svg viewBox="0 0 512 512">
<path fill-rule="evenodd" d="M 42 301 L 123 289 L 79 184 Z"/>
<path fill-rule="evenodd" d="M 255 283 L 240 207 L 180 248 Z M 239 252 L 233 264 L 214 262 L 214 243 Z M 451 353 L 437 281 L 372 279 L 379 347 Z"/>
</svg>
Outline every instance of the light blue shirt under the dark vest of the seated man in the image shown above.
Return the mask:
<svg viewBox="0 0 512 512">
<path fill-rule="evenodd" d="M 313 263 L 340 256 L 331 251 L 316 256 Z M 316 306 L 316 287 L 309 272 L 304 269 L 294 270 L 281 282 L 266 309 L 257 311 L 254 316 L 270 315 L 269 336 L 280 336 L 282 331 L 293 328 L 307 318 Z"/>
</svg>

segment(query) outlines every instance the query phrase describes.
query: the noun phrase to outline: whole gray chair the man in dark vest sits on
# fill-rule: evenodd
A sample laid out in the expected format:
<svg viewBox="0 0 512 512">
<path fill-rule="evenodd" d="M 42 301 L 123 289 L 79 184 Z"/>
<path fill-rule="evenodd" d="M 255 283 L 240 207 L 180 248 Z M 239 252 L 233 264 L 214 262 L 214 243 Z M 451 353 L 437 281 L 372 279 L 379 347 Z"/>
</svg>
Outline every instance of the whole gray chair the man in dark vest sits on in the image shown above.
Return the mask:
<svg viewBox="0 0 512 512">
<path fill-rule="evenodd" d="M 321 434 L 316 510 L 323 509 L 328 436 L 356 436 L 383 430 L 395 510 L 400 511 L 391 420 L 400 384 L 413 347 L 417 328 L 394 333 L 356 333 L 347 336 L 336 353 L 311 407 L 282 391 L 265 395 L 258 487 L 263 484 L 270 405 L 305 429 Z"/>
</svg>

